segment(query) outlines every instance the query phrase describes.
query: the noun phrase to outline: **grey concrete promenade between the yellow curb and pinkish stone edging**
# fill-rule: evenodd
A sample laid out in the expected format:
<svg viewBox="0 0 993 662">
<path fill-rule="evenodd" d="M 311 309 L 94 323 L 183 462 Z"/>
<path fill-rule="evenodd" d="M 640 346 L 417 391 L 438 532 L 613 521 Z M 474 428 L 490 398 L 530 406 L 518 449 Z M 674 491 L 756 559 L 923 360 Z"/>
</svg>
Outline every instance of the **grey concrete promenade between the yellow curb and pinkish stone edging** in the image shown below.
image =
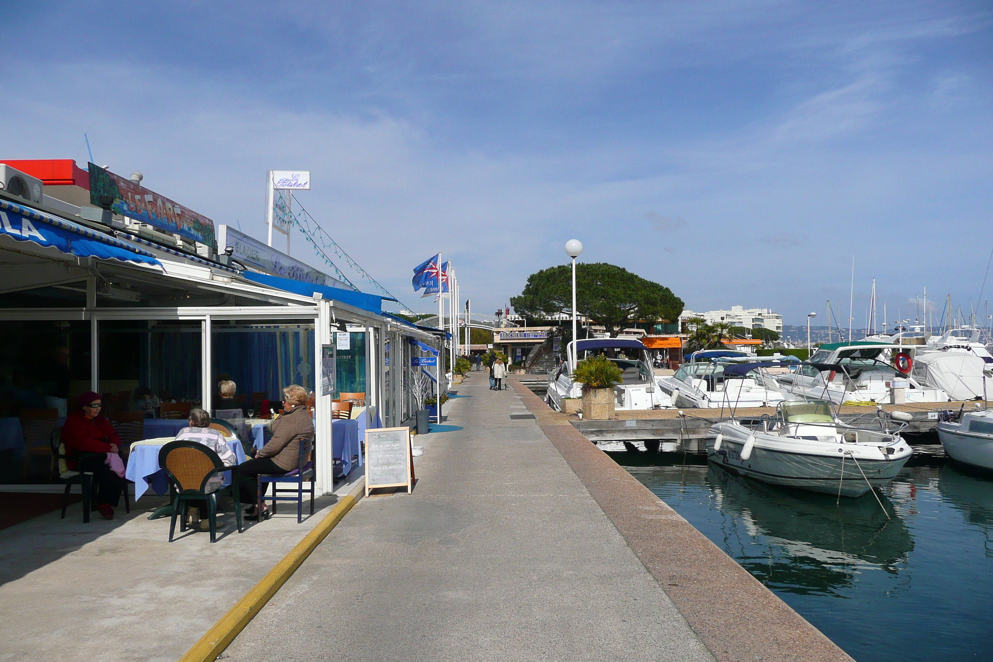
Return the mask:
<svg viewBox="0 0 993 662">
<path fill-rule="evenodd" d="M 473 373 L 227 660 L 711 660 L 512 390 Z"/>
</svg>

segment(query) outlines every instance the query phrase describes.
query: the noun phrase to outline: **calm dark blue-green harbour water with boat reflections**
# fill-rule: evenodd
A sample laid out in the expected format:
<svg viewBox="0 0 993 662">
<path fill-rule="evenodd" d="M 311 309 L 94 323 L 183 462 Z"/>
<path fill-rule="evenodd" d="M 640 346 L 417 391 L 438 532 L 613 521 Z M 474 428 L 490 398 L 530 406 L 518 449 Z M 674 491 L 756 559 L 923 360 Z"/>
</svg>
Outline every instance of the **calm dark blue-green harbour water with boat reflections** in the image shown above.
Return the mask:
<svg viewBox="0 0 993 662">
<path fill-rule="evenodd" d="M 993 660 L 993 477 L 915 458 L 881 496 L 842 499 L 602 447 L 859 662 Z M 634 448 L 634 447 L 629 447 Z"/>
</svg>

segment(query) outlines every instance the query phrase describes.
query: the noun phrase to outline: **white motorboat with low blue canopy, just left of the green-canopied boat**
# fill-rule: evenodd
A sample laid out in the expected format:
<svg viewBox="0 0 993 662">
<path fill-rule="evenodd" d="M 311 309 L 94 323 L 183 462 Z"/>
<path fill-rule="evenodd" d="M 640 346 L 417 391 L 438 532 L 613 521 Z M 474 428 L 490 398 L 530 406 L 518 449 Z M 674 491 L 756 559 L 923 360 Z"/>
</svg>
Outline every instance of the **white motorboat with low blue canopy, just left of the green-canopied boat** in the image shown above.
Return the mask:
<svg viewBox="0 0 993 662">
<path fill-rule="evenodd" d="M 771 407 L 785 400 L 783 390 L 769 368 L 789 363 L 755 360 L 754 356 L 723 356 L 706 362 L 683 363 L 675 374 L 657 377 L 658 387 L 672 398 L 676 407 Z"/>
</svg>

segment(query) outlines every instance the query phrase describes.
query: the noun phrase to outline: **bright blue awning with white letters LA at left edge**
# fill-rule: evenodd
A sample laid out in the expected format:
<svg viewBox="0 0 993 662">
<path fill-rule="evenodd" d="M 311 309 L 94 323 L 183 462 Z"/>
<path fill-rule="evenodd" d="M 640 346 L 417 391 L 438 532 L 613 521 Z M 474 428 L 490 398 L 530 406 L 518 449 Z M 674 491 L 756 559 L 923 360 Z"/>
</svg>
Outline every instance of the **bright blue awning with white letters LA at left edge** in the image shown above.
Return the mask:
<svg viewBox="0 0 993 662">
<path fill-rule="evenodd" d="M 0 199 L 0 234 L 78 257 L 162 266 L 153 253 L 29 206 Z"/>
</svg>

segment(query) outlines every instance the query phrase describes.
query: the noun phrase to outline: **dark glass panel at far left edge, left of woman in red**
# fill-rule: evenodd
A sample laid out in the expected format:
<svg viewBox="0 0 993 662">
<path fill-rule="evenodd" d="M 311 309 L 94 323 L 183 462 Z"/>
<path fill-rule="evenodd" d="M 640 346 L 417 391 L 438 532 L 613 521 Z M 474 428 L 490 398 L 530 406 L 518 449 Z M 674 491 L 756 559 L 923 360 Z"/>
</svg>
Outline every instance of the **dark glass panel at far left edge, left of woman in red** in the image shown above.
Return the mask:
<svg viewBox="0 0 993 662">
<path fill-rule="evenodd" d="M 0 322 L 0 482 L 49 482 L 49 437 L 88 390 L 88 322 Z"/>
</svg>

